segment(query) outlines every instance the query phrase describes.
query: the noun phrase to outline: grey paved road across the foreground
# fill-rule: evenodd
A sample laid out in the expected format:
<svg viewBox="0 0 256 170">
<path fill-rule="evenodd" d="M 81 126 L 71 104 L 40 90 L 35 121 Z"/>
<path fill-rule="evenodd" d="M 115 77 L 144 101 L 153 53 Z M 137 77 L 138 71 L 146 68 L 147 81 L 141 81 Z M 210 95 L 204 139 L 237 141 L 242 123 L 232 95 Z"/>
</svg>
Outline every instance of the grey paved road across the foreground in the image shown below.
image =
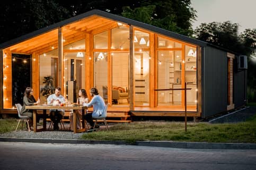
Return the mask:
<svg viewBox="0 0 256 170">
<path fill-rule="evenodd" d="M 256 169 L 256 150 L 0 142 L 0 169 Z"/>
</svg>

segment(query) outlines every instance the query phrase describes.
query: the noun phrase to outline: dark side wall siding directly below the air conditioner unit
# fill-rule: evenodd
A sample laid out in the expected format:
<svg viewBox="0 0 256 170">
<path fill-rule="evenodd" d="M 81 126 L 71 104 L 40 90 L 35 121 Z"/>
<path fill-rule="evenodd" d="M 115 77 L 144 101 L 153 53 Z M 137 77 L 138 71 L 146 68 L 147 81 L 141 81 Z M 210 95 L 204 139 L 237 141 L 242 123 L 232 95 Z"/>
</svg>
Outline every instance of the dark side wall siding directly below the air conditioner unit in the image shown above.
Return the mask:
<svg viewBox="0 0 256 170">
<path fill-rule="evenodd" d="M 234 67 L 236 67 L 234 65 Z M 246 74 L 247 70 L 234 72 L 234 104 L 235 108 L 246 104 Z"/>
</svg>

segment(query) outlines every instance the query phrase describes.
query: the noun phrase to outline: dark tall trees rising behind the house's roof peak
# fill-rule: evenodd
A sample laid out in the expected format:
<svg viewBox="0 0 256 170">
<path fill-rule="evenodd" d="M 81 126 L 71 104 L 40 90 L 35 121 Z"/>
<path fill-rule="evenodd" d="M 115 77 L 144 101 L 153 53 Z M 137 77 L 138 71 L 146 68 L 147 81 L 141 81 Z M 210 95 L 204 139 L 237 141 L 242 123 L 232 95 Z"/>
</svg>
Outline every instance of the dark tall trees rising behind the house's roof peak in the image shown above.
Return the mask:
<svg viewBox="0 0 256 170">
<path fill-rule="evenodd" d="M 195 10 L 190 0 L 9 0 L 0 11 L 0 43 L 63 21 L 69 17 L 99 9 L 112 14 L 146 22 L 183 35 L 192 35 Z M 153 7 L 154 6 L 154 7 Z M 123 8 L 125 7 L 125 8 Z M 129 9 L 129 10 L 128 10 Z M 152 11 L 149 11 L 152 10 Z M 139 12 L 140 11 L 140 12 Z M 125 13 L 140 13 L 140 17 Z M 147 22 L 143 15 L 147 15 Z"/>
</svg>

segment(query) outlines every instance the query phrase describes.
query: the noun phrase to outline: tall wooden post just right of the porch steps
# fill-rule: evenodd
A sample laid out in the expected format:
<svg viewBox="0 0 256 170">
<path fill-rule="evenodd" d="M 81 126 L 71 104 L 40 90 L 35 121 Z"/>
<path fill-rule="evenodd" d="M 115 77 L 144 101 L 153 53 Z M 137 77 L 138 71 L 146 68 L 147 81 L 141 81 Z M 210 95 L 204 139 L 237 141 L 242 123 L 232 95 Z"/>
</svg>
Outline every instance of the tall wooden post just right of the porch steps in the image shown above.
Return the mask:
<svg viewBox="0 0 256 170">
<path fill-rule="evenodd" d="M 129 55 L 129 100 L 130 110 L 134 110 L 134 27 L 129 26 L 130 55 Z"/>
</svg>

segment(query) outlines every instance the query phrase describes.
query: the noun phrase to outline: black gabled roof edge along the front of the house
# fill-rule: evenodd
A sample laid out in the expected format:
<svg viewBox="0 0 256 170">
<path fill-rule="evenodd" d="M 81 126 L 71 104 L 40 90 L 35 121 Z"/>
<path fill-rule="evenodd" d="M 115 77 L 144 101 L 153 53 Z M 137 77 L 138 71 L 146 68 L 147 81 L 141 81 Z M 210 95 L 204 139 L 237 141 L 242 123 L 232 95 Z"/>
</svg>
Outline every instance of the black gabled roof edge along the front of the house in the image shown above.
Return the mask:
<svg viewBox="0 0 256 170">
<path fill-rule="evenodd" d="M 83 18 L 91 16 L 91 15 L 99 15 L 101 17 L 109 18 L 109 19 L 112 19 L 112 20 L 117 21 L 117 22 L 122 22 L 122 23 L 126 23 L 128 25 L 134 25 L 134 26 L 137 26 L 137 27 L 141 27 L 145 30 L 149 30 L 149 31 L 152 31 L 152 32 L 155 32 L 155 33 L 158 33 L 158 34 L 169 36 L 173 39 L 188 42 L 188 43 L 191 43 L 191 44 L 194 44 L 194 45 L 199 45 L 199 46 L 210 45 L 210 46 L 213 46 L 214 48 L 222 49 L 219 46 L 209 44 L 209 43 L 204 42 L 204 41 L 193 39 L 193 38 L 185 36 L 185 35 L 181 35 L 181 34 L 178 34 L 178 33 L 174 33 L 174 32 L 171 32 L 171 31 L 161 29 L 160 27 L 156 27 L 156 26 L 153 26 L 153 25 L 149 25 L 149 24 L 146 24 L 146 23 L 139 22 L 139 21 L 131 20 L 129 18 L 119 16 L 119 15 L 115 15 L 115 14 L 111 14 L 111 13 L 104 12 L 104 11 L 101 11 L 101 10 L 91 10 L 91 11 L 85 12 L 83 14 L 70 17 L 70 18 L 68 18 L 64 21 L 60 21 L 58 23 L 43 27 L 42 29 L 33 31 L 31 33 L 22 35 L 20 37 L 17 37 L 16 39 L 13 39 L 13 40 L 10 40 L 10 41 L 7 41 L 7 42 L 4 42 L 4 43 L 0 44 L 0 49 L 3 50 L 4 48 L 7 48 L 8 46 L 12 46 L 16 43 L 31 39 L 32 37 L 38 36 L 38 35 L 43 34 L 45 32 L 52 31 L 52 30 L 57 29 L 58 27 L 61 27 L 63 25 L 67 25 L 67 24 L 70 24 L 72 22 L 82 20 Z M 226 49 L 222 49 L 222 50 L 228 51 Z M 234 53 L 234 52 L 232 52 L 232 53 Z"/>
</svg>

